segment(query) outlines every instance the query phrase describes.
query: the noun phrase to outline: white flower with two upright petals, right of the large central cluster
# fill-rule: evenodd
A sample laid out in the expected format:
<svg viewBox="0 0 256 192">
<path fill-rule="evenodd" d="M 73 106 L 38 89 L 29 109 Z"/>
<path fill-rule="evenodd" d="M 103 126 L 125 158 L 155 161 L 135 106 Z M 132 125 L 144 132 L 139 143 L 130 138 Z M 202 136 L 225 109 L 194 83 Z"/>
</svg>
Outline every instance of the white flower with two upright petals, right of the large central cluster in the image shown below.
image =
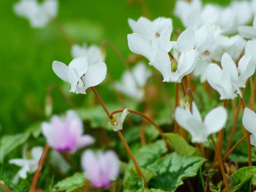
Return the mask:
<svg viewBox="0 0 256 192">
<path fill-rule="evenodd" d="M 238 93 L 242 97 L 242 93 L 238 88 L 238 71 L 236 64 L 228 55 L 224 53 L 221 58 L 221 67 L 215 63 L 211 63 L 207 68 L 207 81 L 213 89 L 220 93 L 220 100 L 234 99 Z"/>
</svg>

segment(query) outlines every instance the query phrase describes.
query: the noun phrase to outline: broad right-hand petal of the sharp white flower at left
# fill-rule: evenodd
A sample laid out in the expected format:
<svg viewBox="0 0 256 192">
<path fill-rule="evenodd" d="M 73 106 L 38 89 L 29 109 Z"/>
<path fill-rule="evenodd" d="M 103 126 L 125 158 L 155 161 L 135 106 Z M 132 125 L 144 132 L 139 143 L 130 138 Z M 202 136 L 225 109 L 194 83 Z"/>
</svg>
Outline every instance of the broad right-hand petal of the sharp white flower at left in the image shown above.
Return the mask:
<svg viewBox="0 0 256 192">
<path fill-rule="evenodd" d="M 85 75 L 83 76 L 84 91 L 89 88 L 100 84 L 107 75 L 107 65 L 104 62 L 90 65 Z"/>
</svg>

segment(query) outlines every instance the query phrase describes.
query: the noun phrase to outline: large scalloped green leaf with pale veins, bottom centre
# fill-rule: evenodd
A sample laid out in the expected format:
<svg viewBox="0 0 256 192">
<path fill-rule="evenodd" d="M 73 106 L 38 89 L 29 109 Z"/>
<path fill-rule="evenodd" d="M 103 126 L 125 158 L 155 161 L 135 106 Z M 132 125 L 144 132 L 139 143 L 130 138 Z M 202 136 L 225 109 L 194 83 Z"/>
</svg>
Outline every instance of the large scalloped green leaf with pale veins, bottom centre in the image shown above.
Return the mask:
<svg viewBox="0 0 256 192">
<path fill-rule="evenodd" d="M 181 156 L 173 152 L 153 164 L 147 169 L 156 175 L 149 181 L 148 186 L 165 191 L 174 191 L 182 185 L 182 180 L 194 177 L 206 159 L 196 156 Z"/>
</svg>

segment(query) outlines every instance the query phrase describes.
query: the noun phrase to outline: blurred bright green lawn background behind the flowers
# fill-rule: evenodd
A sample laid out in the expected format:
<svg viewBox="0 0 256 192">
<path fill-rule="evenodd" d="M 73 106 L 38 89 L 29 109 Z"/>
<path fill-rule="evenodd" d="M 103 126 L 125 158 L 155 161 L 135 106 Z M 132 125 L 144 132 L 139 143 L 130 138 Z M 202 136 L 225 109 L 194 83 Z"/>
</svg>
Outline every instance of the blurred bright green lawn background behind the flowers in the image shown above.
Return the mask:
<svg viewBox="0 0 256 192">
<path fill-rule="evenodd" d="M 65 87 L 63 90 L 77 106 L 89 105 L 89 96 L 69 93 L 70 85 L 52 71 L 52 61 L 68 64 L 70 47 L 53 22 L 44 28 L 31 28 L 28 20 L 13 12 L 17 1 L 1 0 L 0 7 L 0 136 L 24 131 L 33 122 L 44 120 L 44 100 L 51 84 Z M 204 3 L 216 1 L 204 1 Z M 229 0 L 218 0 L 223 5 Z M 145 0 L 149 19 L 159 16 L 171 17 L 174 30 L 184 29 L 179 19 L 172 14 L 174 0 Z M 137 20 L 143 15 L 140 1 L 99 0 L 97 3 L 84 0 L 59 0 L 57 19 L 74 43 L 97 44 L 109 40 L 127 57 L 131 51 L 127 34 L 131 33 L 127 19 Z M 145 14 L 144 14 L 145 15 Z M 119 79 L 125 70 L 116 54 L 106 46 L 106 64 L 114 79 Z M 171 85 L 167 85 L 171 86 Z M 103 100 L 115 102 L 105 80 L 96 87 Z M 172 92 L 171 88 L 168 87 Z M 70 106 L 62 95 L 54 90 L 53 113 L 62 113 Z"/>
</svg>

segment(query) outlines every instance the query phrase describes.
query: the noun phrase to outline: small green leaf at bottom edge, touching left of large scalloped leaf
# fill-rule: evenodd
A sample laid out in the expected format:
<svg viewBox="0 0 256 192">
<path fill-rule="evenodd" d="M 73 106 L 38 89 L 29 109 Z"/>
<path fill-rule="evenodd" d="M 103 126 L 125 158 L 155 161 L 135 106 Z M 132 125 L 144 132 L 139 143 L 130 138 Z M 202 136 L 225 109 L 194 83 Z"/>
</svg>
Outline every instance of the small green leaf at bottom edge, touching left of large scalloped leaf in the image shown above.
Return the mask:
<svg viewBox="0 0 256 192">
<path fill-rule="evenodd" d="M 129 176 L 125 181 L 124 181 L 124 188 L 129 189 L 131 191 L 137 191 L 140 188 L 144 187 L 144 180 L 142 177 L 138 176 Z"/>
</svg>

